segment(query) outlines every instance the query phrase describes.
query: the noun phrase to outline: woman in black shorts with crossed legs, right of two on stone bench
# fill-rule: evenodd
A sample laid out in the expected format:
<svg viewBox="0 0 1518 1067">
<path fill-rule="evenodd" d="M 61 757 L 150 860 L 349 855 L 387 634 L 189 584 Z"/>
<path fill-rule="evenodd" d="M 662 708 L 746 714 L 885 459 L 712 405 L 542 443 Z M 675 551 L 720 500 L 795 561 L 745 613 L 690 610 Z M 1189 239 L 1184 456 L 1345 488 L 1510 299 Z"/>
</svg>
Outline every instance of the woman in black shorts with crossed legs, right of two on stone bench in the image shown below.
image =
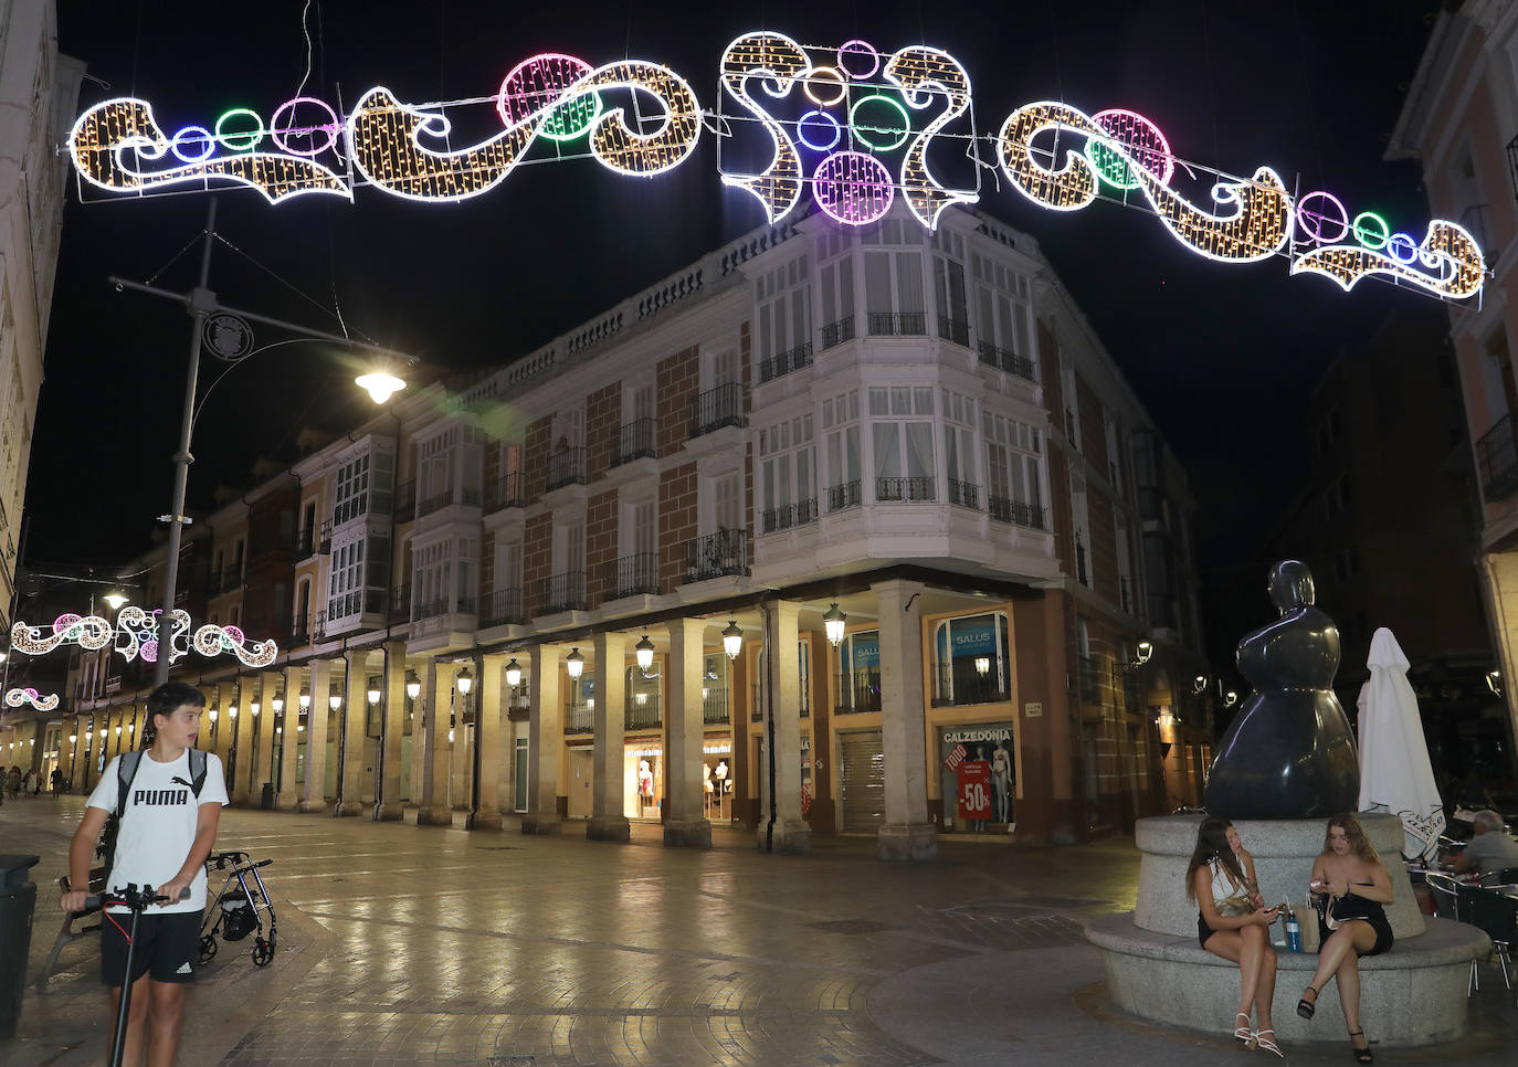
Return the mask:
<svg viewBox="0 0 1518 1067">
<path fill-rule="evenodd" d="M 1386 921 L 1383 906 L 1392 903 L 1392 879 L 1354 815 L 1328 820 L 1324 850 L 1313 864 L 1312 889 L 1327 895 L 1325 908 L 1318 912 L 1322 944 L 1318 949 L 1318 973 L 1296 1003 L 1296 1014 L 1312 1018 L 1318 993 L 1330 977 L 1337 976 L 1339 1003 L 1354 1058 L 1362 1064 L 1372 1062 L 1371 1043 L 1360 1028 L 1359 959 L 1392 947 L 1392 924 Z"/>
</svg>

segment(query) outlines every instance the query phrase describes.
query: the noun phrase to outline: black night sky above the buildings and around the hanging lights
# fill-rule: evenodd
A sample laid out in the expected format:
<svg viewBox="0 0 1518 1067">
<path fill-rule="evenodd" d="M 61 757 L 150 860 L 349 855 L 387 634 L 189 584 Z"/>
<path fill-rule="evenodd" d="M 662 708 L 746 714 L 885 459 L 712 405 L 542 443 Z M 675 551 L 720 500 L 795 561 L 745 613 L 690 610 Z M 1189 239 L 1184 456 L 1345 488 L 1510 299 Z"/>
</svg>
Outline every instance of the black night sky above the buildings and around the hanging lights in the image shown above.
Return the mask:
<svg viewBox="0 0 1518 1067">
<path fill-rule="evenodd" d="M 307 68 L 304 6 L 65 0 L 59 46 L 109 83 L 87 80 L 80 109 L 135 94 L 170 132 L 211 126 L 232 106 L 267 118 Z M 712 108 L 721 52 L 745 30 L 826 46 L 865 38 L 883 52 L 927 42 L 968 70 L 981 132 L 1031 100 L 1064 99 L 1087 114 L 1131 108 L 1183 158 L 1234 175 L 1271 165 L 1289 188 L 1327 188 L 1351 212 L 1375 209 L 1392 229 L 1422 234 L 1418 168 L 1383 153 L 1431 0 L 1005 3 L 993 21 L 988 8 L 313 0 L 305 94 L 351 105 L 386 85 L 407 102 L 481 97 L 521 59 L 556 50 L 592 64 L 665 62 Z M 196 249 L 165 264 L 202 229 L 206 197 L 83 199 L 71 184 L 27 486 L 32 566 L 124 562 L 170 502 L 188 319 L 105 279 L 156 275 L 188 288 Z M 335 299 L 355 332 L 442 369 L 525 354 L 764 220 L 753 197 L 721 185 L 709 135 L 654 181 L 581 159 L 521 168 L 463 205 L 373 188 L 354 203 L 326 199 L 270 208 L 252 191 L 223 193 L 219 231 L 263 267 L 222 246 L 211 288 L 226 304 L 342 332 Z M 1255 542 L 1307 463 L 1312 386 L 1392 307 L 1436 319 L 1444 308 L 1372 281 L 1343 294 L 1322 278 L 1293 279 L 1284 258 L 1214 264 L 1140 211 L 1044 211 L 990 172 L 981 206 L 1038 238 L 1190 471 L 1208 600 L 1242 589 L 1263 621 L 1269 560 Z M 208 507 L 219 483 L 250 484 L 254 457 L 287 455 L 302 423 L 351 425 L 369 401 L 342 373 L 345 358 L 301 345 L 237 367 L 196 431 L 191 507 Z"/>
</svg>

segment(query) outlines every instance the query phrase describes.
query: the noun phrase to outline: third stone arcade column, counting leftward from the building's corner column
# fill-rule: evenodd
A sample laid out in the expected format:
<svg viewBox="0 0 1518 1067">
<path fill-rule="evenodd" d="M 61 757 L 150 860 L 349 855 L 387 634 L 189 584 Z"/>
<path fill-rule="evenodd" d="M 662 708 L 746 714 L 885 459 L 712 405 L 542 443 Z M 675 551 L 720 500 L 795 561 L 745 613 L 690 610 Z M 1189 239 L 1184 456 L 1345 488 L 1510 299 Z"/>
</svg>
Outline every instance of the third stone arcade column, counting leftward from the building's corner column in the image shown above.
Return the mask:
<svg viewBox="0 0 1518 1067">
<path fill-rule="evenodd" d="M 665 845 L 712 847 L 712 823 L 703 812 L 701 745 L 701 668 L 704 666 L 703 619 L 669 622 L 669 704 L 665 709 Z"/>
</svg>

